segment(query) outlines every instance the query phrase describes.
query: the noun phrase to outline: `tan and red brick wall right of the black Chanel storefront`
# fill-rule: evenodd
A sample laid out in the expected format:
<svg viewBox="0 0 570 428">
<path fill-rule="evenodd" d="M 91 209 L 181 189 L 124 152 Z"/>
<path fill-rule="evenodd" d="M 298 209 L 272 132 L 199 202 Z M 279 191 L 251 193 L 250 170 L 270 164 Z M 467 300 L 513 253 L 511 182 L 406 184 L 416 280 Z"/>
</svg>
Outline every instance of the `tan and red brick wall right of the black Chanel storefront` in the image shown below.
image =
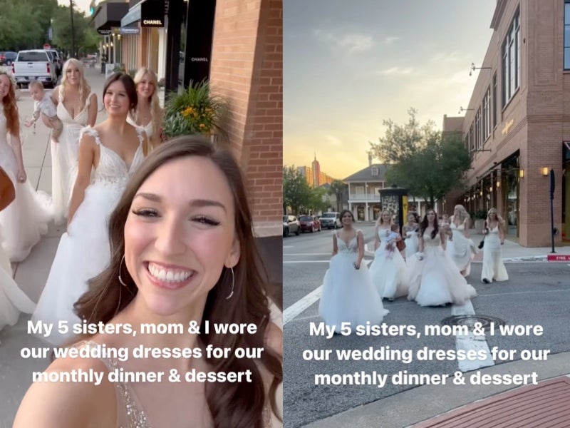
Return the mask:
<svg viewBox="0 0 570 428">
<path fill-rule="evenodd" d="M 283 1 L 217 0 L 210 81 L 229 100 L 229 132 L 247 178 L 255 233 L 281 237 Z"/>
</svg>

